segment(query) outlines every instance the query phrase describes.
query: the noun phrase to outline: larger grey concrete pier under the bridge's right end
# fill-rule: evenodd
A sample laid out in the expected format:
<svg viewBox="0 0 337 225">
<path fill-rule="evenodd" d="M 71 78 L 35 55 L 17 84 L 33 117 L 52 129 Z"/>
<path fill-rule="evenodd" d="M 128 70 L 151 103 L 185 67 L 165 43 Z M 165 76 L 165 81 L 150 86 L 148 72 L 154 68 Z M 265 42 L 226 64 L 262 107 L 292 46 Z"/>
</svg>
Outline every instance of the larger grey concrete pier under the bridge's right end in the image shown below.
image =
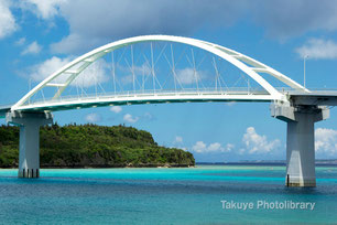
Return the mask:
<svg viewBox="0 0 337 225">
<path fill-rule="evenodd" d="M 329 110 L 317 106 L 273 104 L 271 113 L 287 122 L 285 185 L 316 186 L 314 125 L 327 119 Z"/>
</svg>

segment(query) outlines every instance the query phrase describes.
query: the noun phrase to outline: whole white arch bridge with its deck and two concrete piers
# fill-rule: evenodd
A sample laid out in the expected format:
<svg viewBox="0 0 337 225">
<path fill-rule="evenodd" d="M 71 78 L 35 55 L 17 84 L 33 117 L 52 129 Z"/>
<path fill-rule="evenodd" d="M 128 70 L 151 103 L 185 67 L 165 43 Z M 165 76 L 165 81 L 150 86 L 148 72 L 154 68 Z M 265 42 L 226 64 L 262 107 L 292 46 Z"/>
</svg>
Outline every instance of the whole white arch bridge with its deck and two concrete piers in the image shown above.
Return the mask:
<svg viewBox="0 0 337 225">
<path fill-rule="evenodd" d="M 19 178 L 40 176 L 39 129 L 53 121 L 53 111 L 267 101 L 271 103 L 271 116 L 287 122 L 285 184 L 315 186 L 314 124 L 327 119 L 328 106 L 337 105 L 337 92 L 309 90 L 237 51 L 182 36 L 116 41 L 40 76 L 35 77 L 36 86 L 18 103 L 0 106 L 0 118 L 20 127 Z"/>
</svg>

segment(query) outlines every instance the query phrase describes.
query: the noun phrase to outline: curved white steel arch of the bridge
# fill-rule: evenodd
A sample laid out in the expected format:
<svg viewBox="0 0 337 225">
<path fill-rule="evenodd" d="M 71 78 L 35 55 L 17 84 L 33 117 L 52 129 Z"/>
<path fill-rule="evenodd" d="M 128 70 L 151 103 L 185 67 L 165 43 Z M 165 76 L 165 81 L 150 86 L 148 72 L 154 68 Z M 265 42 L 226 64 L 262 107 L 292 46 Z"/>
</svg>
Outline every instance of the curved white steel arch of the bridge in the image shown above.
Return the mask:
<svg viewBox="0 0 337 225">
<path fill-rule="evenodd" d="M 224 46 L 213 44 L 209 42 L 191 39 L 191 38 L 182 38 L 182 36 L 171 36 L 171 35 L 144 35 L 144 36 L 135 36 L 130 39 L 124 39 L 120 41 L 116 41 L 109 44 L 106 44 L 104 46 L 100 46 L 96 50 L 93 50 L 73 62 L 68 63 L 67 65 L 63 66 L 55 73 L 53 73 L 51 76 L 45 78 L 43 82 L 41 82 L 37 86 L 35 86 L 32 90 L 30 90 L 24 97 L 22 97 L 15 105 L 12 106 L 12 110 L 15 110 L 20 106 L 22 106 L 31 96 L 33 96 L 36 92 L 42 89 L 45 86 L 57 86 L 59 87 L 58 92 L 55 94 L 55 96 L 59 96 L 62 92 L 91 63 L 97 61 L 98 58 L 102 57 L 109 52 L 112 52 L 113 50 L 128 46 L 134 43 L 139 42 L 150 42 L 150 41 L 167 41 L 167 42 L 176 42 L 182 44 L 192 45 L 202 50 L 205 50 L 207 52 L 210 52 L 215 55 L 218 55 L 219 57 L 226 60 L 227 62 L 231 63 L 242 72 L 244 72 L 247 75 L 249 75 L 251 78 L 253 78 L 258 84 L 260 84 L 272 97 L 273 99 L 282 99 L 283 94 L 278 92 L 271 84 L 269 84 L 259 73 L 268 73 L 279 81 L 285 83 L 286 85 L 300 89 L 303 92 L 308 92 L 306 88 L 304 88 L 302 85 L 297 84 L 296 82 L 292 81 L 287 76 L 281 74 L 280 72 L 276 72 L 275 69 L 251 58 L 248 57 L 241 53 L 238 53 L 236 51 L 232 51 L 230 49 L 226 49 Z M 80 64 L 79 67 L 77 67 L 75 71 L 72 69 L 74 66 Z M 248 66 L 248 65 L 250 66 Z M 69 74 L 67 77 L 67 81 L 64 84 L 54 84 L 51 83 L 54 78 L 59 76 L 61 74 Z"/>
</svg>

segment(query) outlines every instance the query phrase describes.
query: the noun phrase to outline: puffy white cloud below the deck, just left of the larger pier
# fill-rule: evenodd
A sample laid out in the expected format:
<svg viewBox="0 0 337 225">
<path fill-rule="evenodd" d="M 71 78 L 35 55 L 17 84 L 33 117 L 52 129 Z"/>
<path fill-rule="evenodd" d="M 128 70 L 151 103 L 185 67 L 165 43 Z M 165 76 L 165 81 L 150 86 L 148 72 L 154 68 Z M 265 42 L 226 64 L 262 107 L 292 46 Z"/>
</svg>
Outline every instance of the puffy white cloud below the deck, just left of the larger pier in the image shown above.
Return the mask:
<svg viewBox="0 0 337 225">
<path fill-rule="evenodd" d="M 279 139 L 268 141 L 267 137 L 258 135 L 253 127 L 247 128 L 242 141 L 249 153 L 268 153 L 281 144 Z"/>
</svg>

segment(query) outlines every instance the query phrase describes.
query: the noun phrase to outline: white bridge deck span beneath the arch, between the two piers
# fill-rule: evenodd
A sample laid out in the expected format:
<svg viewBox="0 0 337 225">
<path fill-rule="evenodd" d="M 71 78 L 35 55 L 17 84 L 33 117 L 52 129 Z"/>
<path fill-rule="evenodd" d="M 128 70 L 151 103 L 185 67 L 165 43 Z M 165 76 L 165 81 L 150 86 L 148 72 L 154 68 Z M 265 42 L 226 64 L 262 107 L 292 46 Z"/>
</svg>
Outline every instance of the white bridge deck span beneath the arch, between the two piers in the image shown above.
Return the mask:
<svg viewBox="0 0 337 225">
<path fill-rule="evenodd" d="M 122 95 L 69 96 L 61 99 L 46 99 L 28 104 L 18 110 L 67 110 L 76 108 L 102 107 L 112 105 L 139 105 L 162 103 L 206 103 L 206 101 L 272 101 L 267 92 L 152 92 L 124 93 Z"/>
</svg>

